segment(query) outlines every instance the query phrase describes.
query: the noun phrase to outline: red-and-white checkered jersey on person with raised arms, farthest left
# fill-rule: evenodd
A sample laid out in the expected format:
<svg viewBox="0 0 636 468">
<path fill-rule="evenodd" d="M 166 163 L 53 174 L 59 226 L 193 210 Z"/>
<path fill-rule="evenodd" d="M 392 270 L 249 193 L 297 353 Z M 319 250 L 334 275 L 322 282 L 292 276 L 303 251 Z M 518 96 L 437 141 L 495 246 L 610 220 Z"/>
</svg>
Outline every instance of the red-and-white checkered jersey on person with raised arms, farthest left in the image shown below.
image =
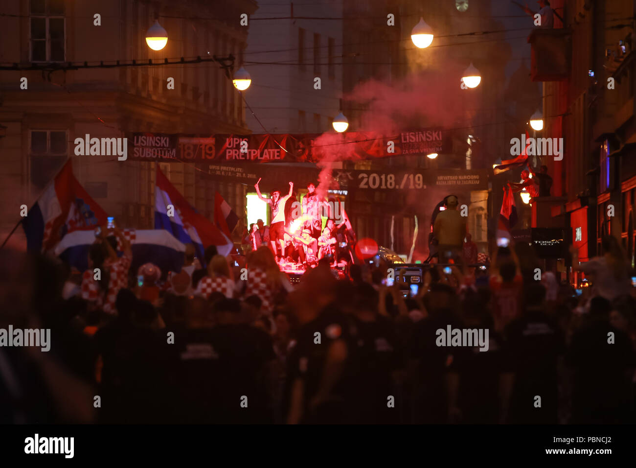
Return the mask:
<svg viewBox="0 0 636 468">
<path fill-rule="evenodd" d="M 96 302 L 97 306 L 104 312 L 114 314 L 117 312 L 115 301 L 121 288 L 128 287 L 128 270 L 130 261 L 128 255 L 122 255 L 116 262 L 106 260 L 104 267 L 108 268 L 110 280 L 106 294 L 99 287 L 99 281 L 93 280 L 93 270 L 88 269 L 82 275 L 81 297 L 86 301 Z"/>
</svg>

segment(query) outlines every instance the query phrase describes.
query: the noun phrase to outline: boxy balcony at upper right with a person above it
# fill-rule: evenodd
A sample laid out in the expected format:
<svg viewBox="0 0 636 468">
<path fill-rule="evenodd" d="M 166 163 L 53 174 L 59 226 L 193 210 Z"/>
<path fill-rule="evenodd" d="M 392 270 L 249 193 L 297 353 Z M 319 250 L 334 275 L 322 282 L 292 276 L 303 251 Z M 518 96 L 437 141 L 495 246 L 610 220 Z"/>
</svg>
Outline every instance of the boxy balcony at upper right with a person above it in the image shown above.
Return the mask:
<svg viewBox="0 0 636 468">
<path fill-rule="evenodd" d="M 560 82 L 570 74 L 572 31 L 569 28 L 537 28 L 530 32 L 530 76 L 533 82 Z"/>
</svg>

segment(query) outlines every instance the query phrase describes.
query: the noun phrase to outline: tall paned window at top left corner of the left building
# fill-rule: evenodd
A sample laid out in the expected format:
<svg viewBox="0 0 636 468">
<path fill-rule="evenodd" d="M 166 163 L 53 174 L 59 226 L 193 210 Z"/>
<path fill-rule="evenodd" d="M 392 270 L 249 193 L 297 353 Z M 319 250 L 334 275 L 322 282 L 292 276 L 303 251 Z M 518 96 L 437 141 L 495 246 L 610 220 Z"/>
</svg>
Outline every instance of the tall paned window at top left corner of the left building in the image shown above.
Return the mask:
<svg viewBox="0 0 636 468">
<path fill-rule="evenodd" d="M 64 0 L 31 0 L 31 62 L 64 62 Z"/>
</svg>

